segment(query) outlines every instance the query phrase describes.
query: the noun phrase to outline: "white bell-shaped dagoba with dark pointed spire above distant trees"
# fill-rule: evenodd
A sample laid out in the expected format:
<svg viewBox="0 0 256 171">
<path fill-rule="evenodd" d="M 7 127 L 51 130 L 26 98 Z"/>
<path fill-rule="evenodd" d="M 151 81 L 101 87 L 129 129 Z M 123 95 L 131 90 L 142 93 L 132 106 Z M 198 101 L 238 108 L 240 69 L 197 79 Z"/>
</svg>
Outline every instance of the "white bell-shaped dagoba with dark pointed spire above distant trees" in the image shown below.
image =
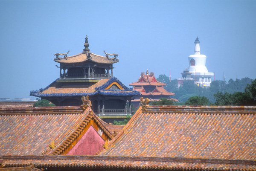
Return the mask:
<svg viewBox="0 0 256 171">
<path fill-rule="evenodd" d="M 206 63 L 206 55 L 200 54 L 199 39 L 195 39 L 195 55 L 189 55 L 189 72 L 191 72 L 191 78 L 195 78 L 195 82 L 201 86 L 209 87 L 212 82 L 212 72 L 208 72 Z"/>
</svg>

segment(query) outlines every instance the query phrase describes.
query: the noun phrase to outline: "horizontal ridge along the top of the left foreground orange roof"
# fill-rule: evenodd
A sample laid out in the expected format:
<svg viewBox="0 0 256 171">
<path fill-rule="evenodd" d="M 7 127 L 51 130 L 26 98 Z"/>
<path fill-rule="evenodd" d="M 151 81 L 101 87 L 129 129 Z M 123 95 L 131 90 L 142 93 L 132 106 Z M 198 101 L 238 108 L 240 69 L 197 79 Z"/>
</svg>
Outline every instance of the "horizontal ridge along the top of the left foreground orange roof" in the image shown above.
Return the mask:
<svg viewBox="0 0 256 171">
<path fill-rule="evenodd" d="M 80 106 L 0 108 L 0 115 L 47 115 L 81 113 Z"/>
</svg>

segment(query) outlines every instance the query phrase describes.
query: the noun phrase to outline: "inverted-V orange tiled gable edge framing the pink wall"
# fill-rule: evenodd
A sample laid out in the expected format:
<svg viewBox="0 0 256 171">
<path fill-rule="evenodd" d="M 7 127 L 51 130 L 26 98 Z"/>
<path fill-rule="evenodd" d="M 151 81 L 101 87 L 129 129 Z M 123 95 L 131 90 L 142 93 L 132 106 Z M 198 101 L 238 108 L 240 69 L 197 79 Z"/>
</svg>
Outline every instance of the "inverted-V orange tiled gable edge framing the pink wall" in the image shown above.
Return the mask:
<svg viewBox="0 0 256 171">
<path fill-rule="evenodd" d="M 77 128 L 74 129 L 73 133 L 64 140 L 61 144 L 58 145 L 54 149 L 54 151 L 51 151 L 50 154 L 53 155 L 59 155 L 63 154 L 65 151 L 67 151 L 67 148 L 74 142 L 76 139 L 79 138 L 79 135 L 82 133 L 82 131 L 87 127 L 87 124 L 90 122 L 91 119 L 94 119 L 100 128 L 109 136 L 110 139 L 113 139 L 112 133 L 101 123 L 100 119 L 96 114 L 93 112 L 91 107 L 87 107 L 86 110 L 83 111 L 83 113 L 86 113 L 83 119 L 81 119 L 80 124 L 78 124 Z"/>
</svg>

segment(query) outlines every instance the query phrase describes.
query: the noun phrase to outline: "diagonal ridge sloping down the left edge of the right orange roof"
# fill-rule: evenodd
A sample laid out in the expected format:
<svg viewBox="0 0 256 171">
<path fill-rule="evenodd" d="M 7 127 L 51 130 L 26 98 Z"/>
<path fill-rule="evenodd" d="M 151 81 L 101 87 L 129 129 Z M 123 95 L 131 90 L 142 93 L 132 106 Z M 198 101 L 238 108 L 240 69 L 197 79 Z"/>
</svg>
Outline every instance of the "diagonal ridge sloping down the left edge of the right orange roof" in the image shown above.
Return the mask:
<svg viewBox="0 0 256 171">
<path fill-rule="evenodd" d="M 131 128 L 131 127 L 134 126 L 133 122 L 134 122 L 135 119 L 137 119 L 138 117 L 141 116 L 141 115 L 140 115 L 141 112 L 142 112 L 142 107 L 140 106 L 139 109 L 137 110 L 137 112 L 134 113 L 134 116 L 131 117 L 131 119 L 129 120 L 129 122 L 128 122 L 128 123 L 125 125 L 125 127 L 122 129 L 122 131 L 119 132 L 118 135 L 115 136 L 114 139 L 111 140 L 111 142 L 109 142 L 109 144 L 108 144 L 108 146 L 109 146 L 108 149 L 112 148 L 113 145 L 114 145 L 117 141 L 119 141 L 119 139 L 122 139 L 122 136 L 125 134 L 125 131 L 126 131 L 126 130 L 128 130 L 129 128 Z M 106 149 L 103 150 L 99 155 L 105 154 L 105 152 L 108 151 L 108 149 L 107 149 L 107 150 L 106 150 Z"/>
</svg>

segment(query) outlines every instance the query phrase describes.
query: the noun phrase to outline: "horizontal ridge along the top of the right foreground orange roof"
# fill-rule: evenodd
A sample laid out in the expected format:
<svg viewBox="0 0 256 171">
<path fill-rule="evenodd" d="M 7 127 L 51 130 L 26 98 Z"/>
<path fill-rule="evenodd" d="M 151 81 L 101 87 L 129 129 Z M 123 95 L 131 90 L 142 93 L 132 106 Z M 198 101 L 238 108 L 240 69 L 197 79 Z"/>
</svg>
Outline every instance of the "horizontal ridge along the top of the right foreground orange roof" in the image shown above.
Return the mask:
<svg viewBox="0 0 256 171">
<path fill-rule="evenodd" d="M 210 113 L 210 114 L 220 114 L 220 113 L 250 113 L 256 114 L 256 106 L 148 106 L 148 113 Z"/>
</svg>

